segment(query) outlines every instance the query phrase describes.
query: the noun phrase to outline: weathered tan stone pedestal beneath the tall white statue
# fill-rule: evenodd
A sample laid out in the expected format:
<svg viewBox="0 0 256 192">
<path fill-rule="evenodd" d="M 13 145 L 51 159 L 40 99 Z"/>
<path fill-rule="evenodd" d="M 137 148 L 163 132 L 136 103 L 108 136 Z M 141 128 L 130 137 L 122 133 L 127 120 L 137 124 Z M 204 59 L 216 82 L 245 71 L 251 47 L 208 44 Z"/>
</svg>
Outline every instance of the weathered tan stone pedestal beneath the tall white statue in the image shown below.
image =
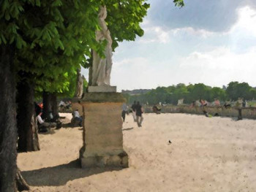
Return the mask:
<svg viewBox="0 0 256 192">
<path fill-rule="evenodd" d="M 80 149 L 82 168 L 128 167 L 123 149 L 121 93 L 86 93 L 80 100 L 83 107 L 83 147 Z"/>
</svg>

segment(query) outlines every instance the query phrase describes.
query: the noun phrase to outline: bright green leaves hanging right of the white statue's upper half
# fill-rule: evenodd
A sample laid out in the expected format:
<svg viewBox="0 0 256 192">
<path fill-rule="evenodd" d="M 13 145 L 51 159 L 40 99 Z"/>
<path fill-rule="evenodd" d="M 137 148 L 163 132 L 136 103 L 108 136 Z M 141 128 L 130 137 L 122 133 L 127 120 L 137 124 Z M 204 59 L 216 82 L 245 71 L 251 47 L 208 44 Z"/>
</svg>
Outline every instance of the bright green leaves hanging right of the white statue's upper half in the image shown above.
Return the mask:
<svg viewBox="0 0 256 192">
<path fill-rule="evenodd" d="M 146 0 L 106 0 L 103 4 L 108 9 L 106 23 L 113 39 L 113 50 L 118 47 L 118 42 L 134 41 L 136 35 L 143 36 L 144 31 L 140 28 L 140 23 L 149 8 Z"/>
</svg>

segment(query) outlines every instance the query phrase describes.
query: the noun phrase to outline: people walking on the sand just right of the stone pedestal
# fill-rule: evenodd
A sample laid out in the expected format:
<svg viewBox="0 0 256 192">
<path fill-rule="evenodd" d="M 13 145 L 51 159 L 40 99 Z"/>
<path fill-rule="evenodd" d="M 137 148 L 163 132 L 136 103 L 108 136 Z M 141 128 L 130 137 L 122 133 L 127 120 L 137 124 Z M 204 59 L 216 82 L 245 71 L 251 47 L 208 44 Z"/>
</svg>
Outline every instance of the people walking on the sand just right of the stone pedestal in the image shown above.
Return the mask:
<svg viewBox="0 0 256 192">
<path fill-rule="evenodd" d="M 132 117 L 133 120 L 138 124 L 138 127 L 142 126 L 142 122 L 143 122 L 143 107 L 140 104 L 140 101 L 134 101 L 134 103 L 132 104 Z M 125 120 L 125 115 L 129 113 L 128 111 L 128 107 L 127 104 L 123 104 L 122 106 L 122 112 L 121 112 L 121 117 L 123 118 L 123 121 Z"/>
</svg>

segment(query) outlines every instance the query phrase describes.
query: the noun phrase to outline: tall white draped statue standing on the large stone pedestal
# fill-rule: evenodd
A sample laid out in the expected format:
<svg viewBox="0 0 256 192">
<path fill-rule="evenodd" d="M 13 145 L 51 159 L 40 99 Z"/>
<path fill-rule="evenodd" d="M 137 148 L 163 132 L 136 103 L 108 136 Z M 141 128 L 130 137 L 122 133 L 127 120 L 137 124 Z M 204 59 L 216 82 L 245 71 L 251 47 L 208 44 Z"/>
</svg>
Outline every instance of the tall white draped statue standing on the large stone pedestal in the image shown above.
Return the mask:
<svg viewBox="0 0 256 192">
<path fill-rule="evenodd" d="M 105 18 L 107 18 L 106 7 L 100 7 L 98 17 L 101 30 L 96 31 L 96 40 L 100 42 L 106 39 L 108 45 L 105 47 L 105 58 L 100 58 L 96 51 L 93 50 L 92 86 L 110 85 L 110 72 L 112 68 L 113 41 L 110 37 L 110 31 L 105 23 Z"/>
</svg>

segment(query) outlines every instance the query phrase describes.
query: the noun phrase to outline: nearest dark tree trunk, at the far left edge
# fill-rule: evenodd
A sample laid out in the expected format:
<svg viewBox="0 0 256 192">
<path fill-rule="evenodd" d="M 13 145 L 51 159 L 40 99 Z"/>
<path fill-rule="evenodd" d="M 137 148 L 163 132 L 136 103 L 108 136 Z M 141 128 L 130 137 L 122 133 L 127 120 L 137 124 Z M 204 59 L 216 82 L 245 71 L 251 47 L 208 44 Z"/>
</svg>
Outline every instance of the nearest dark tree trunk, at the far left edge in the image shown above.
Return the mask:
<svg viewBox="0 0 256 192">
<path fill-rule="evenodd" d="M 0 191 L 16 191 L 17 126 L 14 47 L 0 45 Z"/>
</svg>

